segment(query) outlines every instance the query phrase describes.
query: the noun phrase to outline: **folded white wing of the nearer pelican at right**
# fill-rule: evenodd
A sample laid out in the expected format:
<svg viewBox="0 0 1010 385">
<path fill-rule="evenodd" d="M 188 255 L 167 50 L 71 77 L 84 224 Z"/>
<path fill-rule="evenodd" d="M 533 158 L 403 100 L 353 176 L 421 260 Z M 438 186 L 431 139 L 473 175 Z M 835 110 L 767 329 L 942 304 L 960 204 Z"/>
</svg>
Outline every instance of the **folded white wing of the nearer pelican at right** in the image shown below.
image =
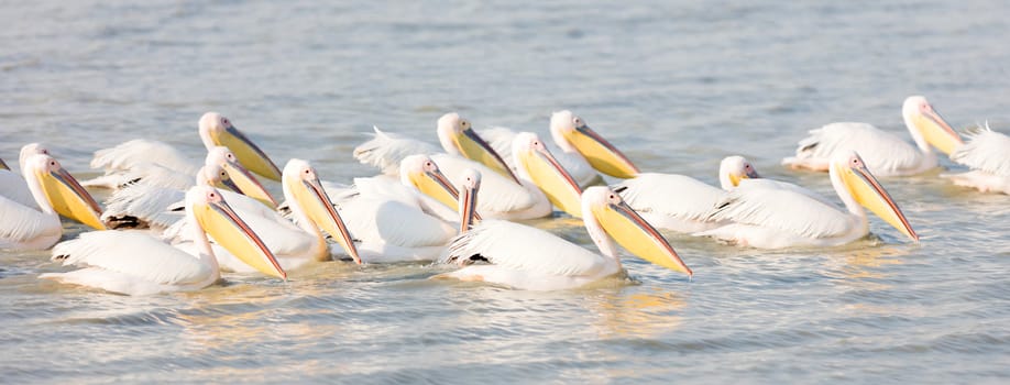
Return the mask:
<svg viewBox="0 0 1010 385">
<path fill-rule="evenodd" d="M 843 235 L 850 224 L 845 212 L 804 194 L 747 185 L 729 191 L 709 218 L 772 228 L 808 238 Z"/>
</svg>

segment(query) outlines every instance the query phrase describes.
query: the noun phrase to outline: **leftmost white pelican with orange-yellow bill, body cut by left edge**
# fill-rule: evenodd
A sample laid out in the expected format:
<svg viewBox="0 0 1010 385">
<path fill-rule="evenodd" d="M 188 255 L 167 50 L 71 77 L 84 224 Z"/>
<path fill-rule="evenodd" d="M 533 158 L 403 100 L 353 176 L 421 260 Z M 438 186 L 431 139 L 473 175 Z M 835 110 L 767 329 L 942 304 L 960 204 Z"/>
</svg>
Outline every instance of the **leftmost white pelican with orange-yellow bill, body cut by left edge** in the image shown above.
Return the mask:
<svg viewBox="0 0 1010 385">
<path fill-rule="evenodd" d="M 48 249 L 63 234 L 59 215 L 105 229 L 98 204 L 55 158 L 32 155 L 21 167 L 37 209 L 0 196 L 0 249 Z"/>
</svg>

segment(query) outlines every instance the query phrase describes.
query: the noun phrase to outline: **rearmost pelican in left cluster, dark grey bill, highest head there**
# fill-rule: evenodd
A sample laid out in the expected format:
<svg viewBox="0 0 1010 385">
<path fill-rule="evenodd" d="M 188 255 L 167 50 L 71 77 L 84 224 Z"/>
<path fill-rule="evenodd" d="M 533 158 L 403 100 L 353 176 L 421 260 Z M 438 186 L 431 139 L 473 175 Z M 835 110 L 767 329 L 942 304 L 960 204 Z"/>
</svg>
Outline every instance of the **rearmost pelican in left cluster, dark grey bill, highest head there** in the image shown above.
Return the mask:
<svg viewBox="0 0 1010 385">
<path fill-rule="evenodd" d="M 228 118 L 217 112 L 207 112 L 199 121 L 200 141 L 208 152 L 213 147 L 224 146 L 234 153 L 235 158 L 245 168 L 263 177 L 281 180 L 281 170 L 273 161 L 260 150 L 249 138 L 232 125 Z M 189 177 L 184 182 L 191 182 L 191 176 L 200 169 L 202 164 L 195 162 L 172 145 L 151 140 L 132 140 L 111 148 L 95 152 L 91 168 L 102 168 L 106 175 L 121 174 L 134 167 L 157 166 L 182 173 Z M 117 187 L 119 177 L 99 177 L 90 184 L 95 187 Z"/>
</svg>

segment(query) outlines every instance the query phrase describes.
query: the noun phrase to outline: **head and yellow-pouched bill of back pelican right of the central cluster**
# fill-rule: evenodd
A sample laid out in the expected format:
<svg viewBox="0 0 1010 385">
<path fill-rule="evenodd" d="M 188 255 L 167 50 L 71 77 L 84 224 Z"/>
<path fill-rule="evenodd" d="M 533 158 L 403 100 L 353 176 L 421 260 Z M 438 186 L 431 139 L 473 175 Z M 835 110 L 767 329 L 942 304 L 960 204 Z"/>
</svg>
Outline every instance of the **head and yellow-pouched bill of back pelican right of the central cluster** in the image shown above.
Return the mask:
<svg viewBox="0 0 1010 385">
<path fill-rule="evenodd" d="M 624 153 L 569 110 L 555 112 L 550 117 L 550 134 L 561 148 L 579 152 L 601 173 L 624 179 L 639 173 L 638 167 Z"/>
</svg>

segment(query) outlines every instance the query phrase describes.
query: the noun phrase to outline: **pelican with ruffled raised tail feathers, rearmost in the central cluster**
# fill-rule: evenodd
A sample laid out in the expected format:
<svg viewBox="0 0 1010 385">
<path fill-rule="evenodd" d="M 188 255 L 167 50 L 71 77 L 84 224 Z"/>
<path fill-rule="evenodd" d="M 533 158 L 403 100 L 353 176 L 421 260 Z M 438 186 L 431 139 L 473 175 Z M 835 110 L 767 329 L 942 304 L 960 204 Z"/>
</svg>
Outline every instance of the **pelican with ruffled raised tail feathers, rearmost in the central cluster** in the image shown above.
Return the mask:
<svg viewBox="0 0 1010 385">
<path fill-rule="evenodd" d="M 354 158 L 362 164 L 376 166 L 385 174 L 395 175 L 399 170 L 399 162 L 408 155 L 439 153 L 436 146 L 426 142 L 386 133 L 378 130 L 377 127 L 374 130 L 375 135 L 372 140 L 354 147 Z M 436 131 L 442 151 L 447 154 L 472 160 L 519 183 L 505 161 L 502 161 L 502 156 L 473 131 L 469 120 L 460 118 L 455 112 L 450 112 L 438 119 Z"/>
</svg>

